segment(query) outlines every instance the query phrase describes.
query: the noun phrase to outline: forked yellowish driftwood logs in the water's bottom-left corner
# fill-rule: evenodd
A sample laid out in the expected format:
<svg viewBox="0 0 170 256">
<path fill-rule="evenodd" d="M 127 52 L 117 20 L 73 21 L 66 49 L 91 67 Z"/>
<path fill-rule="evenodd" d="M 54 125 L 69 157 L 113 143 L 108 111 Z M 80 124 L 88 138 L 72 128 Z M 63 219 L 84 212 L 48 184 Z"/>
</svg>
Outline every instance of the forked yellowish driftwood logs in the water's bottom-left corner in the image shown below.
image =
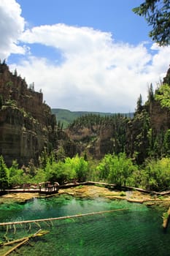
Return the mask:
<svg viewBox="0 0 170 256">
<path fill-rule="evenodd" d="M 45 235 L 45 234 L 47 234 L 47 233 L 49 233 L 49 231 L 47 231 L 47 230 L 39 230 L 39 231 L 37 231 L 36 233 L 34 233 L 34 234 L 31 234 L 30 236 L 26 236 L 26 237 L 24 237 L 24 238 L 20 238 L 20 239 L 17 239 L 17 240 L 14 240 L 14 241 L 9 241 L 9 242 L 7 242 L 7 243 L 2 243 L 2 244 L 0 244 L 0 246 L 9 246 L 9 245 L 11 245 L 11 244 L 17 244 L 17 245 L 15 245 L 15 246 L 13 246 L 11 249 L 9 249 L 9 251 L 7 251 L 3 256 L 7 256 L 7 255 L 9 255 L 11 252 L 14 252 L 16 249 L 18 249 L 20 246 L 22 246 L 23 244 L 26 244 L 28 241 L 29 241 L 29 239 L 31 239 L 31 238 L 34 238 L 34 237 L 36 237 L 36 236 L 43 236 L 43 235 Z"/>
</svg>

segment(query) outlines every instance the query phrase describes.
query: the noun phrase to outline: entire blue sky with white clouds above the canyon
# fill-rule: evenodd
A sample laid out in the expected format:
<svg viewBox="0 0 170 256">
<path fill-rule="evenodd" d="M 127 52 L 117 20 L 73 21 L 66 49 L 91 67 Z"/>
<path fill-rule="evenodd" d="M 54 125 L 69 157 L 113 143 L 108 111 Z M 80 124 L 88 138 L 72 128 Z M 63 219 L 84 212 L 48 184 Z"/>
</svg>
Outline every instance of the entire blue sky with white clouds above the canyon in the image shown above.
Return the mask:
<svg viewBox="0 0 170 256">
<path fill-rule="evenodd" d="M 143 1 L 0 0 L 0 59 L 50 108 L 133 112 L 170 64 L 132 12 Z"/>
</svg>

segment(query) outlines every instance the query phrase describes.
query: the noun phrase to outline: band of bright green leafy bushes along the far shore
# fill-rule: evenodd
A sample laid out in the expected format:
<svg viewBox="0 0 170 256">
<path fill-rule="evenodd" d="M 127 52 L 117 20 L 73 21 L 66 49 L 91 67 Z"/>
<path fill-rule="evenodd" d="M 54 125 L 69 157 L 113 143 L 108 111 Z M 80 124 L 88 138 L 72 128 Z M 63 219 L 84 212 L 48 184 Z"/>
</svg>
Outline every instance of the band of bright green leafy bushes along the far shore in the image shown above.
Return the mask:
<svg viewBox="0 0 170 256">
<path fill-rule="evenodd" d="M 70 181 L 86 181 L 89 177 L 93 181 L 106 181 L 116 184 L 117 187 L 131 186 L 142 187 L 150 190 L 166 190 L 170 184 L 170 159 L 147 159 L 141 169 L 134 164 L 125 153 L 118 155 L 106 154 L 100 162 L 95 163 L 90 159 L 86 161 L 78 155 L 73 158 L 67 157 L 65 161 L 55 162 L 54 158 L 48 157 L 45 168 L 36 169 L 34 176 L 29 175 L 27 168 L 18 169 L 18 163 L 12 162 L 8 169 L 3 157 L 0 157 L 0 181 L 1 190 L 9 185 L 15 187 L 24 183 L 39 183 L 42 181 L 58 181 L 64 184 Z"/>
</svg>

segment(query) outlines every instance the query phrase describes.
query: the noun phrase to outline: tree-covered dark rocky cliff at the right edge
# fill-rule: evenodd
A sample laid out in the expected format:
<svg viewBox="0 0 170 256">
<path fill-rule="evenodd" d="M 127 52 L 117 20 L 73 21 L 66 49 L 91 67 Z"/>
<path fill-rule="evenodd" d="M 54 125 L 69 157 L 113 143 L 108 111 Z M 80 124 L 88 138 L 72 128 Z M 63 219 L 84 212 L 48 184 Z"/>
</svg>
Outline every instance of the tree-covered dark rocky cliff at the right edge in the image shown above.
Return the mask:
<svg viewBox="0 0 170 256">
<path fill-rule="evenodd" d="M 142 164 L 149 158 L 170 157 L 170 69 L 163 78 L 163 84 L 148 91 L 147 102 L 136 110 L 128 122 L 125 151 L 136 162 Z M 161 97 L 160 97 L 161 96 Z M 163 104 L 161 100 L 163 99 Z"/>
</svg>

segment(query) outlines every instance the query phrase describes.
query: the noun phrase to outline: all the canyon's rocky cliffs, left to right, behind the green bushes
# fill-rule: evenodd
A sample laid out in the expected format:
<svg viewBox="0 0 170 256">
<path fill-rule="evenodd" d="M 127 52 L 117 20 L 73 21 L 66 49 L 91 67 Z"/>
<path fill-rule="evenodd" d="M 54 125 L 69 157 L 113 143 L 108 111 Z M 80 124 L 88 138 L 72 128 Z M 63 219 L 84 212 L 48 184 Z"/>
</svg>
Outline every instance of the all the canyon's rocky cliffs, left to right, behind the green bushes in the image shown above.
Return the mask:
<svg viewBox="0 0 170 256">
<path fill-rule="evenodd" d="M 55 149 L 61 158 L 78 153 L 101 159 L 104 154 L 125 151 L 138 164 L 147 157 L 170 157 L 170 69 L 163 83 L 168 87 L 161 86 L 155 94 L 150 89 L 147 102 L 138 106 L 134 118 L 89 114 L 63 131 L 56 126 L 42 93 L 34 91 L 34 84 L 28 88 L 17 72 L 12 74 L 5 63 L 0 64 L 0 155 L 7 165 L 17 159 L 20 166 L 31 159 L 36 164 L 45 148 Z M 160 95 L 163 104 L 156 97 Z"/>
</svg>

